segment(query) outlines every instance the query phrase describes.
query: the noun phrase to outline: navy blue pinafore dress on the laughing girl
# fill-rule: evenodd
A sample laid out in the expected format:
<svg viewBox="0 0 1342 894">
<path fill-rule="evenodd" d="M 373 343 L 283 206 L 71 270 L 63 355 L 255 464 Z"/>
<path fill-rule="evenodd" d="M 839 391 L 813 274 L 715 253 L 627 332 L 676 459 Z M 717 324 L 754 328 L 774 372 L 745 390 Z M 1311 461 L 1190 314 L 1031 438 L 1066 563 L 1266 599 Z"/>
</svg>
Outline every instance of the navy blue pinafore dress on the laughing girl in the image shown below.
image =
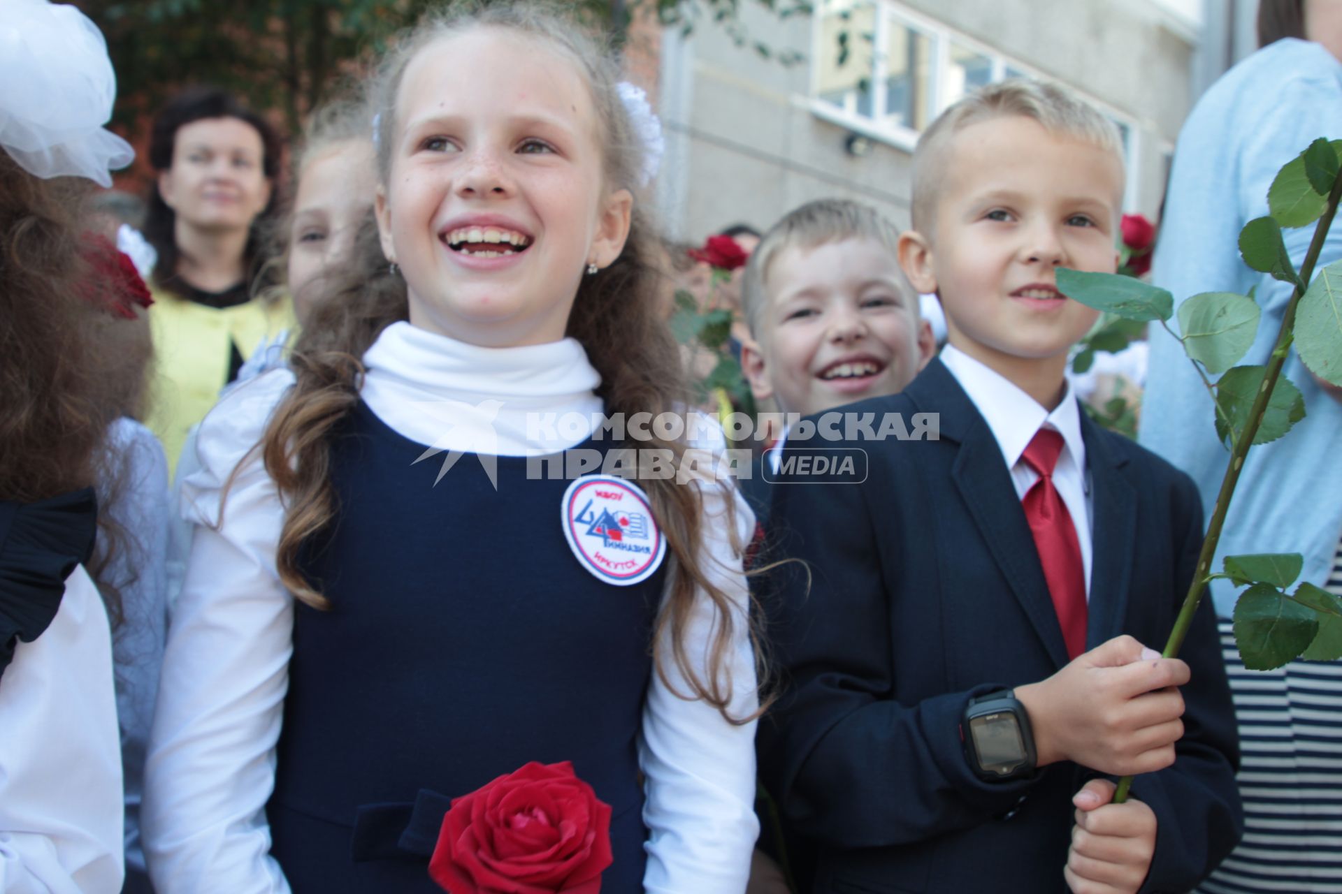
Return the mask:
<svg viewBox="0 0 1342 894">
<path fill-rule="evenodd" d="M 334 440 L 338 521 L 301 558 L 331 609 L 295 610 L 271 854 L 295 894 L 440 891 L 428 855 L 451 797 L 568 760 L 612 807 L 603 893 L 641 891 L 666 570 L 599 580 L 565 540 L 569 481 L 495 457 L 495 489 L 466 454 L 435 487 L 444 454 L 423 452 L 362 402 Z"/>
</svg>

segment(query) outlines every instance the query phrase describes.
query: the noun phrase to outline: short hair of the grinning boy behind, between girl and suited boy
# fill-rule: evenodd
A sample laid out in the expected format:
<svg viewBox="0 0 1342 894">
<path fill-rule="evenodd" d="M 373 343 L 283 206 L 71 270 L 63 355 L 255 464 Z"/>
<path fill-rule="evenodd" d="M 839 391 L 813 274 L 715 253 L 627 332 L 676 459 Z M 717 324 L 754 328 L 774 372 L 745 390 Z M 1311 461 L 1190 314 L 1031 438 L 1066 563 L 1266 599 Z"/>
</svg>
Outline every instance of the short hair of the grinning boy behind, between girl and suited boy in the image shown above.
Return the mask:
<svg viewBox="0 0 1342 894">
<path fill-rule="evenodd" d="M 899 248 L 899 229 L 871 205 L 847 198 L 820 198 L 794 208 L 769 228 L 760 244 L 750 252 L 750 261 L 741 281 L 741 308 L 746 315 L 750 335 L 764 339 L 765 308 L 769 307 L 769 268 L 789 248 L 813 249 L 848 239 L 872 239 L 895 259 Z M 918 315 L 918 295 L 903 271 L 896 284 L 905 304 Z"/>
</svg>

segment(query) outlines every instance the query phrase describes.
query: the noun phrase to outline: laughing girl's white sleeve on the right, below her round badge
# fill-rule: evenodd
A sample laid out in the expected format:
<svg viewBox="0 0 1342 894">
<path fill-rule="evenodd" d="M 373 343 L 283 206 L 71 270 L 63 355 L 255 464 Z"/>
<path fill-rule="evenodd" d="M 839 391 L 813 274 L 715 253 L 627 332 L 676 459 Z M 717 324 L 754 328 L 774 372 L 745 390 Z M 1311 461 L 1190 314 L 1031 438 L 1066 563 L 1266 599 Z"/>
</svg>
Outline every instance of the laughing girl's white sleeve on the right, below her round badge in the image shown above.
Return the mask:
<svg viewBox="0 0 1342 894">
<path fill-rule="evenodd" d="M 725 448 L 721 430 L 695 446 L 714 456 Z M 747 717 L 758 706 L 754 653 L 749 638 L 749 594 L 742 556 L 733 550 L 727 505 L 735 508 L 737 541 L 747 544 L 754 516 L 734 487 L 687 483 L 703 493 L 701 558 L 710 580 L 733 600 L 731 673 L 733 717 Z M 670 584 L 668 584 L 670 587 Z M 707 659 L 715 633 L 714 607 L 701 594 L 691 617 L 686 654 L 698 662 L 696 673 L 707 680 Z M 643 887 L 648 894 L 741 894 L 750 875 L 750 854 L 760 832 L 754 814 L 756 722 L 729 722 L 711 705 L 687 701 L 692 690 L 670 659 L 671 686 L 654 669 L 643 712 L 639 763 L 647 776 L 643 820 L 648 827 L 648 865 Z M 679 694 L 678 694 L 679 693 Z"/>
</svg>

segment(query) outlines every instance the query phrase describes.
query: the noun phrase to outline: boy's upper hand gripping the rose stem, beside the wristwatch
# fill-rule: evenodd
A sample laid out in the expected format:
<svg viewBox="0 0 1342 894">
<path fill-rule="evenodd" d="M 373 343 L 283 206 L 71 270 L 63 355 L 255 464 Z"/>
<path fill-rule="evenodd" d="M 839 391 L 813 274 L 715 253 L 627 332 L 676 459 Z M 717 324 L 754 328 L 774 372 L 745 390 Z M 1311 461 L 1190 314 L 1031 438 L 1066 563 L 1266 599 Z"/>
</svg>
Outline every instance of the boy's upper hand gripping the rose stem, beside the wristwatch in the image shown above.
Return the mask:
<svg viewBox="0 0 1342 894">
<path fill-rule="evenodd" d="M 1161 658 L 1131 637 L 1078 655 L 1056 674 L 1019 686 L 1029 713 L 1037 765 L 1072 760 L 1114 776 L 1165 769 L 1184 735 L 1188 665 Z"/>
</svg>

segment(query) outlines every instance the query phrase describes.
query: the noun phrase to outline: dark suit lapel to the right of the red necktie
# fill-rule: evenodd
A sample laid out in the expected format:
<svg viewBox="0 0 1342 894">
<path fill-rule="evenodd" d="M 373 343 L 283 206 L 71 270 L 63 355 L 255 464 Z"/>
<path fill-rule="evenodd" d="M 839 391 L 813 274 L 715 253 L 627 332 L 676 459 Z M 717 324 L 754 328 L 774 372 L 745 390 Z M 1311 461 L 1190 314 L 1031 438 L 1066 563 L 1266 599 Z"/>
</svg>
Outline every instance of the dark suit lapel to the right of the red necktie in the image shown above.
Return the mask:
<svg viewBox="0 0 1342 894">
<path fill-rule="evenodd" d="M 1126 460 L 1106 444 L 1104 434 L 1082 411 L 1082 438 L 1091 472 L 1095 523 L 1091 528 L 1090 611 L 1086 647 L 1123 633 L 1127 592 L 1137 543 L 1137 491 L 1119 470 Z"/>
</svg>

